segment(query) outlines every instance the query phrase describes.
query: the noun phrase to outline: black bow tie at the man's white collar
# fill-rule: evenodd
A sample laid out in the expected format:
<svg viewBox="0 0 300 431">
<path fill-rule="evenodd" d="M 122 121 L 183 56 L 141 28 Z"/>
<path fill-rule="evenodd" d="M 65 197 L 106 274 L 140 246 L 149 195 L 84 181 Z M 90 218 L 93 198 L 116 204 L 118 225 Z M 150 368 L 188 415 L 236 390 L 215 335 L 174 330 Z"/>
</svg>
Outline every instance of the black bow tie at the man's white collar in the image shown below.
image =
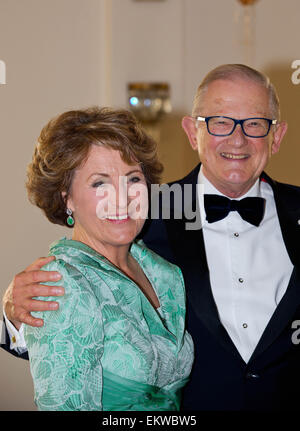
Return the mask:
<svg viewBox="0 0 300 431">
<path fill-rule="evenodd" d="M 242 219 L 259 226 L 265 212 L 265 199 L 244 198 L 239 201 L 219 195 L 204 195 L 204 207 L 208 223 L 222 220 L 230 211 L 237 211 Z"/>
</svg>

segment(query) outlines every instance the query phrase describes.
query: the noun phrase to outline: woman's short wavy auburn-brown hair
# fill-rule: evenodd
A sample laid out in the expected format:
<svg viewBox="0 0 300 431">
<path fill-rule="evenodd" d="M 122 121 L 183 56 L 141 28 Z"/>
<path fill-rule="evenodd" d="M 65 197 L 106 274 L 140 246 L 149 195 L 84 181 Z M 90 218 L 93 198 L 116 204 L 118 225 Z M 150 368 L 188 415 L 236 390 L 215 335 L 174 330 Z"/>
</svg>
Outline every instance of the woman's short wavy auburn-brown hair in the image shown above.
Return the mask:
<svg viewBox="0 0 300 431">
<path fill-rule="evenodd" d="M 129 165 L 140 163 L 148 187 L 159 184 L 163 166 L 156 143 L 131 112 L 99 107 L 65 112 L 42 129 L 27 168 L 28 198 L 52 223 L 69 227 L 66 200 L 92 145 L 119 151 Z"/>
</svg>

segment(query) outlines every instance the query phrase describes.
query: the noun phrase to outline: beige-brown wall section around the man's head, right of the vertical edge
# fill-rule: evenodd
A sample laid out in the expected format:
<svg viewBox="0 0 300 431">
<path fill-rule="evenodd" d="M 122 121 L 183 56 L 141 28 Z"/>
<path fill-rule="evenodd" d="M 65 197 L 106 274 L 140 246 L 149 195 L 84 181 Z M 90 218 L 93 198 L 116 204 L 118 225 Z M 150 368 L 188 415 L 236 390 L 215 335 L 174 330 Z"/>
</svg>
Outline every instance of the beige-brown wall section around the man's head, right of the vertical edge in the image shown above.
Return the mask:
<svg viewBox="0 0 300 431">
<path fill-rule="evenodd" d="M 255 52 L 249 65 L 274 80 L 282 100 L 282 117 L 290 123 L 280 155 L 274 156 L 268 172 L 278 180 L 300 185 L 300 85 L 291 83 L 291 63 L 300 58 L 300 4 L 298 0 L 259 0 L 255 11 Z M 241 43 L 242 12 L 237 0 L 112 2 L 112 104 L 126 103 L 124 89 L 129 81 L 166 80 L 171 84 L 174 111 L 162 124 L 164 139 L 160 141 L 166 181 L 187 173 L 197 161 L 187 147 L 180 118 L 190 113 L 202 77 L 219 64 L 247 59 Z"/>
</svg>

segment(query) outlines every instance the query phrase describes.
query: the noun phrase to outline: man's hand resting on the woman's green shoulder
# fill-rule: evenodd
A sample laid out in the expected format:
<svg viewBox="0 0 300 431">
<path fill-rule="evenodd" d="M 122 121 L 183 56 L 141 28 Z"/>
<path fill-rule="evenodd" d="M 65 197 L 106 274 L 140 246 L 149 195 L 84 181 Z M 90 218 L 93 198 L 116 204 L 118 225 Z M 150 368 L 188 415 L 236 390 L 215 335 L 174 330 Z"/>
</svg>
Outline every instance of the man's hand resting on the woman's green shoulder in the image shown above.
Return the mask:
<svg viewBox="0 0 300 431">
<path fill-rule="evenodd" d="M 41 271 L 40 268 L 54 260 L 54 256 L 41 257 L 17 274 L 3 296 L 3 306 L 7 318 L 20 329 L 22 323 L 30 326 L 43 326 L 43 319 L 34 318 L 31 311 L 57 310 L 58 303 L 38 301 L 33 296 L 62 296 L 64 289 L 60 286 L 45 286 L 39 283 L 58 281 L 59 272 Z"/>
</svg>

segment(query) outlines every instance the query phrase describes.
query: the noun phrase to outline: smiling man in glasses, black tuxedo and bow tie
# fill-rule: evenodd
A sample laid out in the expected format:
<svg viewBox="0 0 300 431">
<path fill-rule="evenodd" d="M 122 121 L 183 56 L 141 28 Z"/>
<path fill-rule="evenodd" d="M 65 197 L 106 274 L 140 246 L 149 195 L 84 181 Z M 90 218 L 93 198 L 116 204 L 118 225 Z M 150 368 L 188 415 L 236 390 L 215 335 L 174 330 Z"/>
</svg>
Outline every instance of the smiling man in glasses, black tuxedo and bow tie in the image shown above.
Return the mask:
<svg viewBox="0 0 300 431">
<path fill-rule="evenodd" d="M 287 129 L 276 91 L 247 66 L 217 67 L 200 84 L 192 116 L 182 125 L 201 164 L 174 184 L 182 190 L 191 185 L 188 205 L 200 214 L 200 228 L 187 229 L 186 208 L 182 217 L 176 208 L 175 217 L 171 205 L 170 217 L 149 221 L 143 239 L 180 266 L 185 279 L 187 328 L 196 357 L 183 407 L 295 409 L 300 188 L 263 172 Z M 6 292 L 6 315 L 17 328 L 21 322 L 38 326 L 41 320 L 29 312 L 54 304 L 33 296 L 62 293 L 38 284 L 50 280 L 51 274 L 38 271 L 44 263 L 38 260 L 18 274 Z M 21 337 L 7 325 L 9 349 Z"/>
</svg>

